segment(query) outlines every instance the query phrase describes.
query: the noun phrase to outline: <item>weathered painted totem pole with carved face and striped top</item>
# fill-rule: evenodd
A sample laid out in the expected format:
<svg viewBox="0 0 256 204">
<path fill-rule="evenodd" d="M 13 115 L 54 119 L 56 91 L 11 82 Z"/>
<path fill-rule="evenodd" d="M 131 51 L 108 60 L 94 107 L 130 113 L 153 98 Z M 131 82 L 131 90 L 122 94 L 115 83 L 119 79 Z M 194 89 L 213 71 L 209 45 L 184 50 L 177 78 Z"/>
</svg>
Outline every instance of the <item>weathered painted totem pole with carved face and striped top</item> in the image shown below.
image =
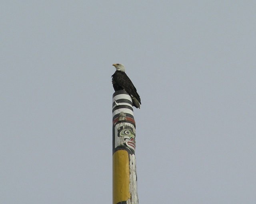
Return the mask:
<svg viewBox="0 0 256 204">
<path fill-rule="evenodd" d="M 113 204 L 138 204 L 135 121 L 132 98 L 125 90 L 113 94 Z"/>
</svg>

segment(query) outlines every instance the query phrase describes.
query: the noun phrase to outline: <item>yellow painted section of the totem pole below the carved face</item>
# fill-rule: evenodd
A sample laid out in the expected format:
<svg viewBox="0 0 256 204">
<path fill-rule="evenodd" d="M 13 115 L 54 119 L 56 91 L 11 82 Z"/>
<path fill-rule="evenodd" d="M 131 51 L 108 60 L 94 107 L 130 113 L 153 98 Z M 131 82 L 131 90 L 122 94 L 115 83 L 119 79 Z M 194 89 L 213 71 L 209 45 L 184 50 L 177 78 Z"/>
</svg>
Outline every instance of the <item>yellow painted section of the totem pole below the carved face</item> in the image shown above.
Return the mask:
<svg viewBox="0 0 256 204">
<path fill-rule="evenodd" d="M 113 154 L 113 204 L 131 197 L 129 191 L 129 155 L 125 150 Z"/>
</svg>

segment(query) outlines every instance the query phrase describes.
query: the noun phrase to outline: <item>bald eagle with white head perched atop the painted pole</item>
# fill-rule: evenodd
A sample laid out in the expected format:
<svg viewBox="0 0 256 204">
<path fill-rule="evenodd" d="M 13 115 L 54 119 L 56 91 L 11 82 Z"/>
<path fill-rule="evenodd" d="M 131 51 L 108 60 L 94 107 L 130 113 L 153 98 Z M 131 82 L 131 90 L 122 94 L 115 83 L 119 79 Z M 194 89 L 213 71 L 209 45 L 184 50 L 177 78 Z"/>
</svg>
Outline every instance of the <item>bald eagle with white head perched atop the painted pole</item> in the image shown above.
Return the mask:
<svg viewBox="0 0 256 204">
<path fill-rule="evenodd" d="M 133 106 L 140 108 L 140 96 L 137 93 L 136 88 L 134 87 L 130 78 L 124 72 L 124 65 L 122 64 L 113 64 L 116 68 L 114 75 L 112 75 L 112 84 L 115 91 L 125 90 L 132 98 Z"/>
</svg>

